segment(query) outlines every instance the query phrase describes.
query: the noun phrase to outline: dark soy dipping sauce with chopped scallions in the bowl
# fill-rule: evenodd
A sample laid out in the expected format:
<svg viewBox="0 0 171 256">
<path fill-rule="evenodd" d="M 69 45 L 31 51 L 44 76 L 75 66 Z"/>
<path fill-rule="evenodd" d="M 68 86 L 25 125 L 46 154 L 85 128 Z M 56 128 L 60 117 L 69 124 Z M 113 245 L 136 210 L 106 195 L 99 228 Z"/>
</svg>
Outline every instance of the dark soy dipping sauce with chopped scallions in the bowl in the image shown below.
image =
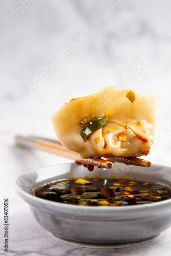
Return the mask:
<svg viewBox="0 0 171 256">
<path fill-rule="evenodd" d="M 137 180 L 80 178 L 40 186 L 35 190 L 35 196 L 67 204 L 125 206 L 169 199 L 171 189 Z"/>
</svg>

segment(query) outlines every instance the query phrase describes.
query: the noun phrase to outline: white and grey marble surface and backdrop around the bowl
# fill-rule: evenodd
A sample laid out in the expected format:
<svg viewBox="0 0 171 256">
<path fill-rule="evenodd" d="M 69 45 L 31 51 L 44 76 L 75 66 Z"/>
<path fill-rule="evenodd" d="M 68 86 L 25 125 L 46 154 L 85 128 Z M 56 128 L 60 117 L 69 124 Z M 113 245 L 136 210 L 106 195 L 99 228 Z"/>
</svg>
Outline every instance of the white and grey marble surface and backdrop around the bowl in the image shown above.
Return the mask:
<svg viewBox="0 0 171 256">
<path fill-rule="evenodd" d="M 28 1 L 0 2 L 0 255 L 170 255 L 170 228 L 151 243 L 125 249 L 79 248 L 55 240 L 33 219 L 14 183 L 29 169 L 69 160 L 13 144 L 16 134 L 55 138 L 49 117 L 71 98 L 104 86 L 129 87 L 158 95 L 156 140 L 147 159 L 170 166 L 171 2 L 116 0 L 111 6 L 106 0 Z M 137 68 L 145 56 L 144 67 Z M 54 61 L 57 67 L 35 86 L 34 76 Z M 28 83 L 34 85 L 31 92 Z M 10 205 L 7 253 L 2 246 L 4 197 Z"/>
</svg>

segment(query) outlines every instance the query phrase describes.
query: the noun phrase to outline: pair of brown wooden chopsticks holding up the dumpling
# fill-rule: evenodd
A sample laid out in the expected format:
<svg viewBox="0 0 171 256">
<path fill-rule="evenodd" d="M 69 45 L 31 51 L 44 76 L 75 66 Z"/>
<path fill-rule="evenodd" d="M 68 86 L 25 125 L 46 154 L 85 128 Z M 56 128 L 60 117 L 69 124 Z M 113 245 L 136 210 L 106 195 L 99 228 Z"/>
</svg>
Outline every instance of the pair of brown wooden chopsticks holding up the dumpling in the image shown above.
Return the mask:
<svg viewBox="0 0 171 256">
<path fill-rule="evenodd" d="M 137 158 L 137 157 L 115 157 L 115 158 L 81 158 L 76 152 L 68 150 L 65 146 L 63 146 L 59 141 L 57 140 L 51 140 L 36 136 L 29 136 L 29 137 L 23 137 L 23 136 L 16 136 L 16 142 L 19 145 L 29 147 L 29 148 L 35 148 L 37 150 L 42 150 L 49 152 L 51 154 L 55 154 L 58 156 L 70 158 L 72 160 L 75 160 L 78 163 L 87 164 L 87 165 L 93 165 L 103 168 L 112 168 L 114 162 L 118 163 L 124 163 L 126 165 L 137 165 L 142 167 L 150 167 L 151 162 Z"/>
</svg>

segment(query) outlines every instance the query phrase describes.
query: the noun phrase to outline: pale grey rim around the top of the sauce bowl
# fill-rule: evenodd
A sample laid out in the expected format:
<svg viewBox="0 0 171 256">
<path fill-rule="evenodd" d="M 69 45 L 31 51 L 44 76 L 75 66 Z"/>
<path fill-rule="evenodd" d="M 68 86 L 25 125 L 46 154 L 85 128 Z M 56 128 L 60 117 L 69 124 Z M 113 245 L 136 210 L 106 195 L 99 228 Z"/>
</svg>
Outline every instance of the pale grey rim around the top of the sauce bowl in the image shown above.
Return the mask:
<svg viewBox="0 0 171 256">
<path fill-rule="evenodd" d="M 131 212 L 135 212 L 136 211 L 140 211 L 142 209 L 149 209 L 150 211 L 153 209 L 158 209 L 159 207 L 163 207 L 165 205 L 168 205 L 170 204 L 170 209 L 168 209 L 168 211 L 170 210 L 171 211 L 171 198 L 170 199 L 166 199 L 166 200 L 163 200 L 163 201 L 160 201 L 160 202 L 154 202 L 154 203 L 145 203 L 145 204 L 139 204 L 139 205 L 121 205 L 121 206 L 117 206 L 117 207 L 106 207 L 106 206 L 100 206 L 100 207 L 95 207 L 95 206 L 90 206 L 90 205 L 85 205 L 85 206 L 82 206 L 82 205 L 76 205 L 76 204 L 65 204 L 65 203 L 60 203 L 60 202 L 55 202 L 55 201 L 50 201 L 50 200 L 47 200 L 47 199 L 43 199 L 43 198 L 38 198 L 34 195 L 31 195 L 29 194 L 28 192 L 26 192 L 21 186 L 20 186 L 20 179 L 24 179 L 24 177 L 26 175 L 28 175 L 29 173 L 40 173 L 42 169 L 46 169 L 46 168 L 49 168 L 49 167 L 53 167 L 53 166 L 59 166 L 59 165 L 72 165 L 72 164 L 75 164 L 74 162 L 69 162 L 69 163 L 61 163 L 61 164 L 54 164 L 54 165 L 48 165 L 48 166 L 45 166 L 45 167 L 41 167 L 37 170 L 28 170 L 26 173 L 20 175 L 17 177 L 16 181 L 15 181 L 15 188 L 16 188 L 16 191 L 18 193 L 18 195 L 20 197 L 22 197 L 24 199 L 24 201 L 26 201 L 29 205 L 32 205 L 32 206 L 35 206 L 35 204 L 31 204 L 29 203 L 27 200 L 25 199 L 28 199 L 29 201 L 33 201 L 33 202 L 37 202 L 40 203 L 40 204 L 47 204 L 47 206 L 52 206 L 54 208 L 63 208 L 63 210 L 67 210 L 68 208 L 72 211 L 76 210 L 76 209 L 82 209 L 82 208 L 86 208 L 88 211 L 93 211 L 94 213 L 96 212 L 113 212 L 113 211 L 116 211 L 116 212 L 128 212 L 128 211 L 131 211 Z M 157 167 L 161 167 L 161 168 L 168 168 L 170 169 L 170 172 L 171 172 L 171 167 L 170 166 L 165 166 L 165 165 L 160 165 L 160 164 L 153 164 L 152 166 L 157 166 Z M 136 166 L 134 166 L 135 168 Z M 105 168 L 104 168 L 105 169 Z M 38 207 L 37 207 L 38 208 Z M 165 210 L 164 210 L 165 211 Z M 161 212 L 160 212 L 161 214 Z"/>
</svg>

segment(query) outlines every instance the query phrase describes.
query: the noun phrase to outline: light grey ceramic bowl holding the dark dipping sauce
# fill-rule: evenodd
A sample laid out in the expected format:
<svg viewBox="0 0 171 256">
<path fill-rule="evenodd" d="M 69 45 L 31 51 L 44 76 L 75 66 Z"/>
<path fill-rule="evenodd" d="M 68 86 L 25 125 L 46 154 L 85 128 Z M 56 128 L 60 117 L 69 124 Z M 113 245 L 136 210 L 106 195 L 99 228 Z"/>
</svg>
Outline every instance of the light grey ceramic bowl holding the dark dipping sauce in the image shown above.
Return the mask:
<svg viewBox="0 0 171 256">
<path fill-rule="evenodd" d="M 56 238 L 84 247 L 129 247 L 154 240 L 171 226 L 171 199 L 150 204 L 96 207 L 63 204 L 34 196 L 42 184 L 68 178 L 135 178 L 171 188 L 171 167 L 150 168 L 116 163 L 93 172 L 75 163 L 29 171 L 16 180 L 16 189 L 36 221 Z"/>
</svg>

